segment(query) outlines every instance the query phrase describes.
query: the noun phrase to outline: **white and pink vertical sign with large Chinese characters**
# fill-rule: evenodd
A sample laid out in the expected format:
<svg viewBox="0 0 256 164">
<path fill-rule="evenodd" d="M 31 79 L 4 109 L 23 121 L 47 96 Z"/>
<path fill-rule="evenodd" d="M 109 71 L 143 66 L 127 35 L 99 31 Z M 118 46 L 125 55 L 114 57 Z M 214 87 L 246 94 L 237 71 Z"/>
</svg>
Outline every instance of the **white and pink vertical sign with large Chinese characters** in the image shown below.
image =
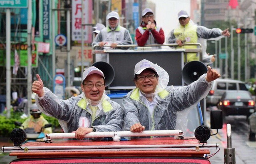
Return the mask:
<svg viewBox="0 0 256 164">
<path fill-rule="evenodd" d="M 92 0 L 84 0 L 84 22 L 92 24 Z M 81 41 L 82 0 L 72 1 L 72 40 Z M 84 42 L 92 42 L 92 26 L 84 26 Z"/>
</svg>

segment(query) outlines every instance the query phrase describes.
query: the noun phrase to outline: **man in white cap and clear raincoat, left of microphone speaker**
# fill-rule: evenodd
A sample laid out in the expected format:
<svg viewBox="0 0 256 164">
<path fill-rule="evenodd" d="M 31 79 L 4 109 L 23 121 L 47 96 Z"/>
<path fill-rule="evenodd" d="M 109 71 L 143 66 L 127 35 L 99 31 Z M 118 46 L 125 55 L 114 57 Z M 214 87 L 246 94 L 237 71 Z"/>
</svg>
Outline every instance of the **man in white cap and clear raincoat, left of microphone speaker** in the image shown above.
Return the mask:
<svg viewBox="0 0 256 164">
<path fill-rule="evenodd" d="M 98 44 L 100 49 L 104 45 L 116 48 L 117 45 L 132 44 L 132 38 L 129 31 L 119 25 L 119 15 L 117 12 L 110 12 L 106 16 L 107 26 L 103 28 L 92 42 L 92 46 Z M 99 48 L 97 48 L 99 49 Z M 128 49 L 128 48 L 120 48 Z"/>
</svg>

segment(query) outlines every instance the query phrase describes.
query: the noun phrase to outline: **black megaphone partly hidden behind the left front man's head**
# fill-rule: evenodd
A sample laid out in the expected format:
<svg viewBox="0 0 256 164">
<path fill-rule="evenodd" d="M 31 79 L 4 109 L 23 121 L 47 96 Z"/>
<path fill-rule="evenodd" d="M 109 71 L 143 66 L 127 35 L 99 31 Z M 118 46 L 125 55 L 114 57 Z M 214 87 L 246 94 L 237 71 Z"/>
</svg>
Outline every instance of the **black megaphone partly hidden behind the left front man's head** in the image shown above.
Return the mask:
<svg viewBox="0 0 256 164">
<path fill-rule="evenodd" d="M 110 64 L 108 64 L 107 62 L 95 62 L 94 64 L 92 64 L 92 66 L 95 66 L 103 72 L 106 80 L 105 86 L 109 86 L 113 82 L 115 77 L 115 71 Z"/>
</svg>

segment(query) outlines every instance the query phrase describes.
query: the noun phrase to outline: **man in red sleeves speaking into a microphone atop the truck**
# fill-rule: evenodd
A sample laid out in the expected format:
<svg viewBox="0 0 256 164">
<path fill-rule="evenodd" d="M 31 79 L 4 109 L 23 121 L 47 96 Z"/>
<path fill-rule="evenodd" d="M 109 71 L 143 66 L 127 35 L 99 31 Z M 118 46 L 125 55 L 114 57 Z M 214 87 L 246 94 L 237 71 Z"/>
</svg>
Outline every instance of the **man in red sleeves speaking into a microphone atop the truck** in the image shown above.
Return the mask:
<svg viewBox="0 0 256 164">
<path fill-rule="evenodd" d="M 164 31 L 160 26 L 156 26 L 154 13 L 150 8 L 142 11 L 142 22 L 136 29 L 136 41 L 138 46 L 164 44 Z"/>
</svg>

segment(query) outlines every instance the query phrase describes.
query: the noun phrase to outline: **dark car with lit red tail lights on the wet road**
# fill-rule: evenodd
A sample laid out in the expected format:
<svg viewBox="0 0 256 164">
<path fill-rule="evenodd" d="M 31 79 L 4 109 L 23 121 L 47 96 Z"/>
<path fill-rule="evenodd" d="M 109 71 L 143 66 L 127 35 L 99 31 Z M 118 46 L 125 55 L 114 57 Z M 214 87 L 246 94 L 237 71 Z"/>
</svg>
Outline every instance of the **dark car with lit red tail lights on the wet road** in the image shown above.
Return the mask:
<svg viewBox="0 0 256 164">
<path fill-rule="evenodd" d="M 229 115 L 244 115 L 248 118 L 254 112 L 255 102 L 249 91 L 226 91 L 217 106 L 222 110 L 223 119 Z"/>
</svg>

